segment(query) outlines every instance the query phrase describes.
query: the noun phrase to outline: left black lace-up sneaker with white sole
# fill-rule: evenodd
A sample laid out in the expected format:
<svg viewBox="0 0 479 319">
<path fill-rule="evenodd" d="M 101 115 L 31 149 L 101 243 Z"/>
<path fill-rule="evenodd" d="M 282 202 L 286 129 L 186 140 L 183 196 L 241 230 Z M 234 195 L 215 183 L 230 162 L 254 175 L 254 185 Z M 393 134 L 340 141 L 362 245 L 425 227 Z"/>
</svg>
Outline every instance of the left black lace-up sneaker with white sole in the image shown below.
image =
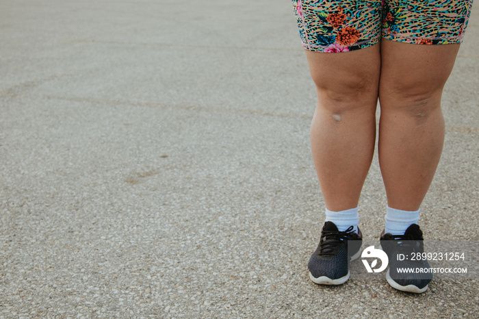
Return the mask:
<svg viewBox="0 0 479 319">
<path fill-rule="evenodd" d="M 354 227 L 339 231 L 334 222 L 325 222 L 318 248 L 309 259 L 309 278 L 322 285 L 341 285 L 349 279 L 349 261 L 361 255 L 363 235 Z M 350 242 L 348 250 L 348 241 Z M 349 251 L 349 253 L 348 253 Z"/>
</svg>

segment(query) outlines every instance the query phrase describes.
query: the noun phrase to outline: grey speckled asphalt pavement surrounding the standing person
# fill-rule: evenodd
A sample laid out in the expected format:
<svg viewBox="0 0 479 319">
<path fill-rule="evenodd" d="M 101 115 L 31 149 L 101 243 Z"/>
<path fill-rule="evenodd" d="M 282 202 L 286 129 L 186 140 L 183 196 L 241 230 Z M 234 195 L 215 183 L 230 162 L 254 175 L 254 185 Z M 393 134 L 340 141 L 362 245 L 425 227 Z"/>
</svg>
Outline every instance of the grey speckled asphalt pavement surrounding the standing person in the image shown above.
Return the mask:
<svg viewBox="0 0 479 319">
<path fill-rule="evenodd" d="M 478 39 L 473 10 L 429 239 L 479 240 Z M 0 43 L 0 318 L 477 318 L 478 277 L 309 281 L 324 203 L 290 1 L 1 1 Z M 375 157 L 365 238 L 385 205 Z"/>
</svg>

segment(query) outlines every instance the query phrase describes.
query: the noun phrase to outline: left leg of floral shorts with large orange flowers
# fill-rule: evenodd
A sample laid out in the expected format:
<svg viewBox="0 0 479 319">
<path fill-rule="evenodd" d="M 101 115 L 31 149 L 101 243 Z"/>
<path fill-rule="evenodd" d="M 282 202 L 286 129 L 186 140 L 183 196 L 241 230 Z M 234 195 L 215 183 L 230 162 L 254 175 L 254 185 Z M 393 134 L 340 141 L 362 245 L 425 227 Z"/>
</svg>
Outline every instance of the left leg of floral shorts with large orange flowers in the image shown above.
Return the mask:
<svg viewBox="0 0 479 319">
<path fill-rule="evenodd" d="M 353 51 L 380 39 L 381 0 L 292 2 L 302 45 L 309 51 Z"/>
</svg>

